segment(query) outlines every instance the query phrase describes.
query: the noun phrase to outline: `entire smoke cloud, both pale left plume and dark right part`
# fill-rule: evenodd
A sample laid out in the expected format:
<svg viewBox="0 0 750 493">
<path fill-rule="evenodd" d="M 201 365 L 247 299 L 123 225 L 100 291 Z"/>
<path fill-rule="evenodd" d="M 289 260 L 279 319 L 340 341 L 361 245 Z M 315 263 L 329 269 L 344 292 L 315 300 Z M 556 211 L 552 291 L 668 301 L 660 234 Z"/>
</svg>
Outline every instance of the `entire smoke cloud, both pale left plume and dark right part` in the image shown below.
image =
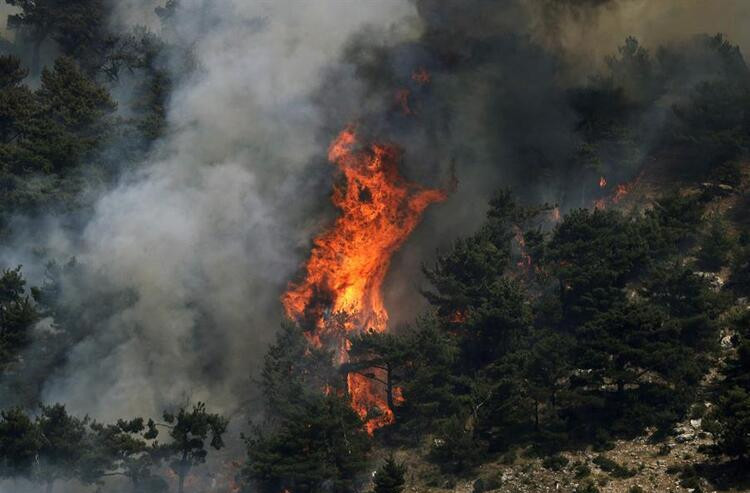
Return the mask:
<svg viewBox="0 0 750 493">
<path fill-rule="evenodd" d="M 190 47 L 196 69 L 177 81 L 153 158 L 96 202 L 80 236 L 45 225 L 3 255 L 33 281 L 42 268 L 29 245 L 78 261 L 63 298 L 92 330 L 45 376 L 44 399 L 102 419 L 188 398 L 236 409 L 280 321 L 279 295 L 333 212 L 325 150 L 349 123 L 402 147 L 409 179 L 458 181 L 389 276 L 392 320 L 412 320 L 420 264 L 473 231 L 498 187 L 585 205 L 571 175 L 580 137 L 568 90 L 625 36 L 656 43 L 721 29 L 747 42 L 741 1 L 697 5 L 184 0 L 161 34 Z M 158 29 L 156 6 L 118 2 L 112 23 Z M 429 83 L 415 79 L 420 69 Z M 668 107 L 648 115 L 654 127 Z"/>
</svg>

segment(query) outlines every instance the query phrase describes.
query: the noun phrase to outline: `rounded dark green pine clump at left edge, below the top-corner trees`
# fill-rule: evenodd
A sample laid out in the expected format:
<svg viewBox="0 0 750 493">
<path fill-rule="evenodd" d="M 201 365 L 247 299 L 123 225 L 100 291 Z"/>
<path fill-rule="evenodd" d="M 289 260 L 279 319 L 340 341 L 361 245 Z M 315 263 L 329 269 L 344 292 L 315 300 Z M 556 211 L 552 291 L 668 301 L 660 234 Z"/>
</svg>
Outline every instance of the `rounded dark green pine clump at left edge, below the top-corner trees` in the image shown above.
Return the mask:
<svg viewBox="0 0 750 493">
<path fill-rule="evenodd" d="M 0 63 L 0 234 L 13 214 L 64 212 L 85 186 L 90 163 L 111 133 L 109 92 L 68 58 L 45 68 L 41 86 L 21 85 L 17 61 Z M 55 207 L 52 207 L 52 206 Z"/>
</svg>

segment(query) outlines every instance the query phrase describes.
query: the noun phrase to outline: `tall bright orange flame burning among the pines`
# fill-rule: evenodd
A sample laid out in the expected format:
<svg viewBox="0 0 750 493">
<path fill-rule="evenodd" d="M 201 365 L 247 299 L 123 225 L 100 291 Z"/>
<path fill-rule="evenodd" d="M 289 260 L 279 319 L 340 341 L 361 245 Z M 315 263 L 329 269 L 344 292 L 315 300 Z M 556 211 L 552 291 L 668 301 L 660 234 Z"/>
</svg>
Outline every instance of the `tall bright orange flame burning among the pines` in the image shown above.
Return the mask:
<svg viewBox="0 0 750 493">
<path fill-rule="evenodd" d="M 341 216 L 315 238 L 304 280 L 290 284 L 282 297 L 287 316 L 310 326 L 312 344 L 338 349 L 340 363 L 348 360 L 347 332 L 387 329 L 381 285 L 391 256 L 427 206 L 447 196 L 400 176 L 395 147 L 356 146 L 356 133 L 347 128 L 329 148 L 328 158 L 344 178 L 332 196 Z M 393 422 L 381 384 L 354 373 L 347 383 L 352 406 L 367 422 L 368 432 Z"/>
</svg>

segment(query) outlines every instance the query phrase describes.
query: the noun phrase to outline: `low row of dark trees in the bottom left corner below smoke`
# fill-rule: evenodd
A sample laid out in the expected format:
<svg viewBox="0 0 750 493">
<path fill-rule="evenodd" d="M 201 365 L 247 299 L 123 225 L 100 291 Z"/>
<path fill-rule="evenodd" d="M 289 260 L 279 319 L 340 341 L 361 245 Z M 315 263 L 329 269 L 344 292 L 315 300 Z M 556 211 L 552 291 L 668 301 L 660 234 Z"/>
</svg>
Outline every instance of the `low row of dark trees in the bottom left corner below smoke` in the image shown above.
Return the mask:
<svg viewBox="0 0 750 493">
<path fill-rule="evenodd" d="M 177 442 L 159 444 L 158 434 L 143 418 L 105 425 L 71 416 L 60 404 L 41 406 L 35 417 L 12 408 L 0 412 L 0 478 L 25 477 L 52 491 L 58 480 L 101 486 L 107 477 L 124 476 L 134 491 L 162 493 L 168 485 L 154 471 Z M 183 447 L 188 457 L 201 455 L 202 440 L 191 436 Z"/>
</svg>

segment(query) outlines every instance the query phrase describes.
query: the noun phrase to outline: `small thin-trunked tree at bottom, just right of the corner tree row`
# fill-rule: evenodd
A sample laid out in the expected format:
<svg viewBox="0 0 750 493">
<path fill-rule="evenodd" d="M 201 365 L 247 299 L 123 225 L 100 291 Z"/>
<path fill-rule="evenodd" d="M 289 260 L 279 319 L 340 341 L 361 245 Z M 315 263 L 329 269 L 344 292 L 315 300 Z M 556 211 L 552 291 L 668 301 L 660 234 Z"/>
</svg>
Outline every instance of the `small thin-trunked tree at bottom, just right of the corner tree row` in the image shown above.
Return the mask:
<svg viewBox="0 0 750 493">
<path fill-rule="evenodd" d="M 180 408 L 177 414 L 164 413 L 171 442 L 162 446 L 161 452 L 169 459 L 169 467 L 177 475 L 178 491 L 184 491 L 185 478 L 190 470 L 206 462 L 206 440 L 215 450 L 224 447 L 222 436 L 229 421 L 219 414 L 210 414 L 206 405 L 199 402 L 191 410 Z"/>
</svg>

